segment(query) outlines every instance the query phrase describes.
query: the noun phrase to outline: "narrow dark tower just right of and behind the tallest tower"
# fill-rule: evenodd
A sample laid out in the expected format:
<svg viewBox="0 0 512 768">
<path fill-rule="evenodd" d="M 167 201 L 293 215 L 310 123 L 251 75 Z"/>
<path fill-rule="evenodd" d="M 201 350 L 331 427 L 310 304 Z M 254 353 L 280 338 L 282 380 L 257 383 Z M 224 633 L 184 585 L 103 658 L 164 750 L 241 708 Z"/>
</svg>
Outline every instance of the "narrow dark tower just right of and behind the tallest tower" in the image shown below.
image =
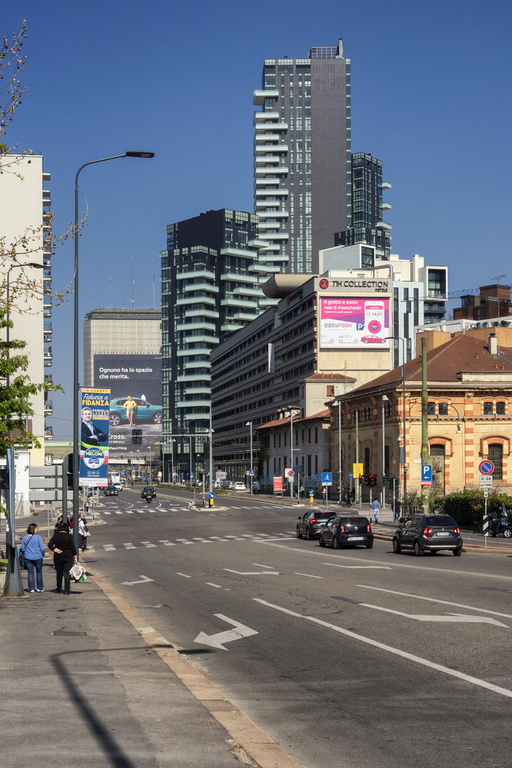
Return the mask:
<svg viewBox="0 0 512 768">
<path fill-rule="evenodd" d="M 335 245 L 368 243 L 375 246 L 375 257 L 388 260 L 391 253 L 391 224 L 382 211 L 391 204 L 382 201 L 382 190 L 391 189 L 382 180 L 382 161 L 365 152 L 352 155 L 352 227 L 335 233 Z"/>
</svg>

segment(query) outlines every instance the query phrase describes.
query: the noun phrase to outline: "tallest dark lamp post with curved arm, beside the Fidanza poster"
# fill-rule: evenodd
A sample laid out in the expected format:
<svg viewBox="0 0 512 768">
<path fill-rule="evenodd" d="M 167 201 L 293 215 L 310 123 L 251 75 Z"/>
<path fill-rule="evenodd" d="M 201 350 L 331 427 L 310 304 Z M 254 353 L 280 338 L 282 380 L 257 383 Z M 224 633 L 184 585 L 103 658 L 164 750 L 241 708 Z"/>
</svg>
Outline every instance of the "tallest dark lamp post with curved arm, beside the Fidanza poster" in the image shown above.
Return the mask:
<svg viewBox="0 0 512 768">
<path fill-rule="evenodd" d="M 78 382 L 78 177 L 88 165 L 117 160 L 118 157 L 154 157 L 154 152 L 125 152 L 101 160 L 91 160 L 78 168 L 74 177 L 74 333 L 73 333 L 73 538 L 78 551 L 78 482 L 80 479 L 80 383 Z"/>
</svg>

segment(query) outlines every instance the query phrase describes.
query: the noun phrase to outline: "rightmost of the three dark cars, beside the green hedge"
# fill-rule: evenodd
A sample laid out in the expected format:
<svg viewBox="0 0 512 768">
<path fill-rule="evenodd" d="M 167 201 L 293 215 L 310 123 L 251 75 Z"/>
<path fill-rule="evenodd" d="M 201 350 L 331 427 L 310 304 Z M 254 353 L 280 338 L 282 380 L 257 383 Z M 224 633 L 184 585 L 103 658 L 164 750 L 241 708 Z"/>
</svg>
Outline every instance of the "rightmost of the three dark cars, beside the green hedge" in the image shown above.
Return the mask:
<svg viewBox="0 0 512 768">
<path fill-rule="evenodd" d="M 412 515 L 393 536 L 393 551 L 414 550 L 421 558 L 424 552 L 438 554 L 441 549 L 462 553 L 461 531 L 450 515 Z"/>
</svg>

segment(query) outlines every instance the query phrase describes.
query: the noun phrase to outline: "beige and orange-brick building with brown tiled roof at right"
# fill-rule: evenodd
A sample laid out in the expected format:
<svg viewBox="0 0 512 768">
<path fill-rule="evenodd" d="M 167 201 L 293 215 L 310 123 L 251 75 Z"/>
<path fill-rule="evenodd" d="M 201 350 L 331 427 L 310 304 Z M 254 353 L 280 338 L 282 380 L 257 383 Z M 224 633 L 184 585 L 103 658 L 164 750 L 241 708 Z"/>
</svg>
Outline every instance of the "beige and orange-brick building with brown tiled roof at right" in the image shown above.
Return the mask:
<svg viewBox="0 0 512 768">
<path fill-rule="evenodd" d="M 510 488 L 512 463 L 512 329 L 457 334 L 448 340 L 428 334 L 428 446 L 437 492 L 479 485 L 478 465 L 494 462 L 494 486 Z M 436 346 L 436 343 L 440 346 Z M 444 343 L 442 343 L 444 342 Z M 510 346 L 505 346 L 509 344 Z M 355 462 L 358 412 L 358 460 L 365 474 L 400 479 L 404 491 L 421 489 L 421 357 L 405 365 L 405 414 L 402 369 L 397 368 L 336 399 L 330 406 L 332 455 L 338 455 L 341 426 L 342 475 Z M 383 400 L 383 398 L 386 398 Z M 382 406 L 384 403 L 384 457 Z M 339 412 L 341 410 L 341 425 Z M 405 420 L 405 464 L 401 443 Z"/>
</svg>

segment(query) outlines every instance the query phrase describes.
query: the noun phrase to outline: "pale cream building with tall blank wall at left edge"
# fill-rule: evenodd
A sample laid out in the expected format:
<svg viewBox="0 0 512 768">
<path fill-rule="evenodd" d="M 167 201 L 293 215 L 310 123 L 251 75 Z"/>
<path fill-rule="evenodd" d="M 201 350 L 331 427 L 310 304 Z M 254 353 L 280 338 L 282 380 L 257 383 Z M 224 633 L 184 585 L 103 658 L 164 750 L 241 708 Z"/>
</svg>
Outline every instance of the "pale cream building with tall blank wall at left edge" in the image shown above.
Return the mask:
<svg viewBox="0 0 512 768">
<path fill-rule="evenodd" d="M 2 264 L 0 279 L 5 299 L 9 283 L 9 315 L 13 327 L 11 339 L 21 339 L 28 357 L 26 375 L 31 382 L 51 382 L 51 195 L 48 191 L 50 174 L 44 170 L 40 154 L 0 157 L 0 242 Z M 43 269 L 25 266 L 35 263 Z M 2 331 L 5 339 L 5 329 Z M 38 392 L 31 396 L 34 414 L 27 419 L 28 430 L 35 435 L 41 448 L 16 450 L 16 508 L 28 513 L 29 465 L 42 466 L 45 460 L 45 439 L 51 440 L 52 429 L 45 425 L 50 416 L 51 393 Z"/>
</svg>

